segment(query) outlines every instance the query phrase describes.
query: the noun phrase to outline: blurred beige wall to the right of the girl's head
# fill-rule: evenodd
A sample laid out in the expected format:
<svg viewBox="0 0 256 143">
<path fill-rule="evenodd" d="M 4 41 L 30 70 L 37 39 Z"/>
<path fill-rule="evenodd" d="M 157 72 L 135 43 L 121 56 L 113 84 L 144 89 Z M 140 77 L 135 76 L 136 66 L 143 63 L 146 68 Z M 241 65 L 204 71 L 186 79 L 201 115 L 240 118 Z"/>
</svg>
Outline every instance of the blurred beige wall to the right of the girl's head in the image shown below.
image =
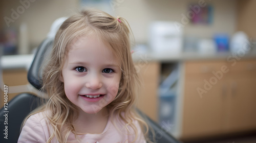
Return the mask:
<svg viewBox="0 0 256 143">
<path fill-rule="evenodd" d="M 198 4 L 199 1 L 201 0 L 126 0 L 116 6 L 115 11 L 130 22 L 137 42 L 145 43 L 147 41 L 148 26 L 152 21 L 170 20 L 181 22 L 181 14 L 186 15 L 189 5 Z M 206 5 L 214 6 L 214 22 L 209 26 L 195 26 L 188 23 L 184 27 L 184 34 L 199 38 L 211 38 L 217 32 L 233 34 L 237 27 L 237 1 L 215 0 L 204 2 Z"/>
</svg>

